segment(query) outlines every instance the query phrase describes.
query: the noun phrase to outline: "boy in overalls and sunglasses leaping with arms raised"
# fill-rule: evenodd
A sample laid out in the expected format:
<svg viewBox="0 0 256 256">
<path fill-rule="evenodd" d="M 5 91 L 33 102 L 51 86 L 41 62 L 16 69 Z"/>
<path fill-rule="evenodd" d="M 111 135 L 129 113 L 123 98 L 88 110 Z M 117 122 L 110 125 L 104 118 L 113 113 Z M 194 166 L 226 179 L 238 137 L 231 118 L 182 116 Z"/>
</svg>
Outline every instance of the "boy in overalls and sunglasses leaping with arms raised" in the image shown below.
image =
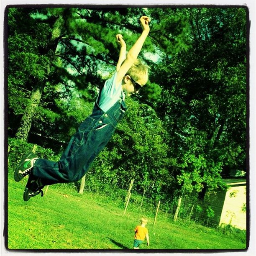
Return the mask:
<svg viewBox="0 0 256 256">
<path fill-rule="evenodd" d="M 127 110 L 125 97 L 138 92 L 148 80 L 148 68 L 137 57 L 148 36 L 150 19 L 142 16 L 140 22 L 142 33 L 127 56 L 122 36 L 116 36 L 121 46 L 116 72 L 105 82 L 92 114 L 81 123 L 60 160 L 54 162 L 39 159 L 33 152 L 29 152 L 20 161 L 14 179 L 19 182 L 29 175 L 23 192 L 24 201 L 39 193 L 43 196 L 42 188 L 46 185 L 81 179 L 112 137 Z"/>
</svg>

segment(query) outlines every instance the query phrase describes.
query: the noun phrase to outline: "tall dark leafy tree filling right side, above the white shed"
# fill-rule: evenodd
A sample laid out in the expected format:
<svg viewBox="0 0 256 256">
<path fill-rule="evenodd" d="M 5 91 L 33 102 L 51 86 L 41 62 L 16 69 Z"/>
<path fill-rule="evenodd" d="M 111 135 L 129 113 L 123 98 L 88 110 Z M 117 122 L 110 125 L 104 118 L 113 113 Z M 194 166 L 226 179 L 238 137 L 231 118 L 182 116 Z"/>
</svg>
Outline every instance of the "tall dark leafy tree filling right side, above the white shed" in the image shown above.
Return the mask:
<svg viewBox="0 0 256 256">
<path fill-rule="evenodd" d="M 202 183 L 223 186 L 223 166 L 246 168 L 246 10 L 179 11 L 189 17 L 192 47 L 152 72 L 163 88 L 156 112 L 172 137 L 177 189 L 186 195 Z"/>
</svg>

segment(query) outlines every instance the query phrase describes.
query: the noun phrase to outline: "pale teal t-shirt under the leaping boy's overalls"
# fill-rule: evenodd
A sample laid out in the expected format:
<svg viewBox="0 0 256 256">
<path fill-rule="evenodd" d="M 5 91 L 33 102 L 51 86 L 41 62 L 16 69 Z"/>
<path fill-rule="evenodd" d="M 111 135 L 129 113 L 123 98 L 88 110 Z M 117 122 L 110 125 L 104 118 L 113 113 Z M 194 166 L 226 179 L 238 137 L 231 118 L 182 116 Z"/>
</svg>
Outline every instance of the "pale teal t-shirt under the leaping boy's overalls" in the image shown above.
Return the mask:
<svg viewBox="0 0 256 256">
<path fill-rule="evenodd" d="M 106 80 L 100 94 L 99 107 L 104 112 L 107 112 L 113 105 L 115 105 L 115 102 L 120 100 L 120 98 L 123 98 L 123 100 L 125 99 L 121 82 L 117 87 L 115 86 L 116 75 L 117 72 L 115 72 L 110 79 Z"/>
</svg>

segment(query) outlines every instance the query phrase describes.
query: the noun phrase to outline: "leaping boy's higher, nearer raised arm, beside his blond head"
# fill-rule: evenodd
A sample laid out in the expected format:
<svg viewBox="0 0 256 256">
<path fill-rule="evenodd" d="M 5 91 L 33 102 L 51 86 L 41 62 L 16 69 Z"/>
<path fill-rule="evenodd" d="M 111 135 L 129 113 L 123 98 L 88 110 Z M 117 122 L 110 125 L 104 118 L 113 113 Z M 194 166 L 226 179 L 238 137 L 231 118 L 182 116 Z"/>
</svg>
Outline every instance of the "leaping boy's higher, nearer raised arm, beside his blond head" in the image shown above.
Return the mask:
<svg viewBox="0 0 256 256">
<path fill-rule="evenodd" d="M 141 48 L 148 36 L 149 30 L 150 30 L 148 23 L 150 22 L 150 19 L 147 16 L 142 16 L 140 18 L 140 22 L 142 27 L 141 36 L 137 39 L 135 44 L 128 51 L 125 61 L 121 65 L 120 69 L 118 70 L 117 77 L 116 77 L 117 84 L 119 84 L 122 81 L 126 72 L 132 66 L 133 62 L 137 59 L 138 54 L 140 53 Z"/>
</svg>

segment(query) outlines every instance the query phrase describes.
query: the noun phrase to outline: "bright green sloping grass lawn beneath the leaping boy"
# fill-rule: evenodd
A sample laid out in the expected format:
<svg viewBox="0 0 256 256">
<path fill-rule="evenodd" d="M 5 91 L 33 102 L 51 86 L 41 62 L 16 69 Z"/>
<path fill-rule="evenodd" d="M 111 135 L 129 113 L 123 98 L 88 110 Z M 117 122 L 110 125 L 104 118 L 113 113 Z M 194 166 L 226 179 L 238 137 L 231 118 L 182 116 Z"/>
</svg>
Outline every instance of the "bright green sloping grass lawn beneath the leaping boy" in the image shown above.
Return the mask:
<svg viewBox="0 0 256 256">
<path fill-rule="evenodd" d="M 9 249 L 132 249 L 138 215 L 104 197 L 50 186 L 46 195 L 23 201 L 26 180 L 8 178 Z M 45 188 L 44 188 L 45 191 Z M 150 246 L 141 249 L 245 249 L 218 230 L 160 218 L 147 225 Z"/>
</svg>

